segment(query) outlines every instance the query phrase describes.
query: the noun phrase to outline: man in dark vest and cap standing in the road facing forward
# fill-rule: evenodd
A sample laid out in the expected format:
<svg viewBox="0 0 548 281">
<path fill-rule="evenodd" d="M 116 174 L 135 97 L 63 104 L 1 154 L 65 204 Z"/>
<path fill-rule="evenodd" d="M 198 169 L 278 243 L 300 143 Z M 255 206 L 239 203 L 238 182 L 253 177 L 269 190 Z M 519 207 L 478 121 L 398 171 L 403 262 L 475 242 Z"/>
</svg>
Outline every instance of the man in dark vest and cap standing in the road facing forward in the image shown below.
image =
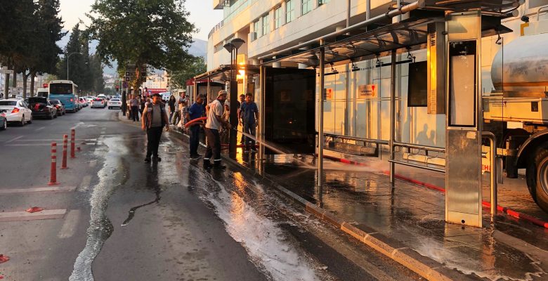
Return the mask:
<svg viewBox="0 0 548 281">
<path fill-rule="evenodd" d="M 145 110 L 143 110 L 141 129 L 147 132 L 148 141 L 145 162 L 150 162 L 151 156 L 155 161 L 162 161 L 162 158 L 158 157 L 158 147 L 164 127 L 169 131 L 166 107 L 162 104 L 162 96 L 155 93 L 152 96 L 152 103 L 146 103 Z"/>
</svg>

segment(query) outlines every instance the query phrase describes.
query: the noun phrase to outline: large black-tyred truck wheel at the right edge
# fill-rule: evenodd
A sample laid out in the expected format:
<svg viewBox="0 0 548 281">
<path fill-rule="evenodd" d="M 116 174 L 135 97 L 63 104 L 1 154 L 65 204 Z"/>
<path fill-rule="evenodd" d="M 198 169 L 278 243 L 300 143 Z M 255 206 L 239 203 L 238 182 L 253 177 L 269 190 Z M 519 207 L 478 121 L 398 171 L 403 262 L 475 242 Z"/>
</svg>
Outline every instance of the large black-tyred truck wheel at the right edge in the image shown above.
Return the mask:
<svg viewBox="0 0 548 281">
<path fill-rule="evenodd" d="M 548 213 L 548 150 L 540 148 L 527 167 L 527 187 L 533 200 Z"/>
</svg>

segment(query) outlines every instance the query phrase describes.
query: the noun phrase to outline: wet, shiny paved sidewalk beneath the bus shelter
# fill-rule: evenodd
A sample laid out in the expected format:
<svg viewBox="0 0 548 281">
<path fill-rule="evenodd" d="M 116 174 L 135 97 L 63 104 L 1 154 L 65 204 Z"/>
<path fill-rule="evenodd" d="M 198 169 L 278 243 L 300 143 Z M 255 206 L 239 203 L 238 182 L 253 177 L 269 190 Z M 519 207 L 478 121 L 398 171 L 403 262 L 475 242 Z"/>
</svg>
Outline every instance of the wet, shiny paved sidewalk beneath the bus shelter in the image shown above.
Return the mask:
<svg viewBox="0 0 548 281">
<path fill-rule="evenodd" d="M 256 162 L 243 156 L 238 162 L 254 169 Z M 331 220 L 346 221 L 358 228 L 358 233 L 366 233 L 365 237 L 379 233 L 379 240 L 393 249 L 408 247 L 474 279 L 546 278 L 548 236 L 544 228 L 502 213 L 490 223 L 488 209 L 484 209 L 482 229 L 445 223 L 442 192 L 400 180 L 391 188 L 384 164 L 378 161 L 353 166 L 327 160 L 324 188 L 318 190 L 314 166 L 315 159 L 310 156 L 275 155 L 266 159 L 264 169 L 270 181 L 334 214 Z M 397 171 L 439 181 L 439 176 L 428 171 L 412 173 L 400 166 Z M 330 221 L 327 215 L 318 216 Z"/>
</svg>

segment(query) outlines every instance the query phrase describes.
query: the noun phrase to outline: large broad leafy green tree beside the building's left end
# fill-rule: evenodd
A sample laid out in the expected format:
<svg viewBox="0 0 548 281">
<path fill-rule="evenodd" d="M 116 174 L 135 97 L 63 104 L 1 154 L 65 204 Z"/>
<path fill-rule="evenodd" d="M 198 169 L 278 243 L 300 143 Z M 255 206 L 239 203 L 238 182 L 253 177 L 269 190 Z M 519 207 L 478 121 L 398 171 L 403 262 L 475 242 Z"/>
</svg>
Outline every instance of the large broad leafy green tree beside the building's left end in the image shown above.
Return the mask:
<svg viewBox="0 0 548 281">
<path fill-rule="evenodd" d="M 89 34 L 99 41 L 103 63 L 117 60 L 119 72 L 136 65 L 133 88 L 141 86 L 145 67 L 183 70 L 195 26 L 188 22 L 185 0 L 96 0 L 88 14 Z"/>
</svg>

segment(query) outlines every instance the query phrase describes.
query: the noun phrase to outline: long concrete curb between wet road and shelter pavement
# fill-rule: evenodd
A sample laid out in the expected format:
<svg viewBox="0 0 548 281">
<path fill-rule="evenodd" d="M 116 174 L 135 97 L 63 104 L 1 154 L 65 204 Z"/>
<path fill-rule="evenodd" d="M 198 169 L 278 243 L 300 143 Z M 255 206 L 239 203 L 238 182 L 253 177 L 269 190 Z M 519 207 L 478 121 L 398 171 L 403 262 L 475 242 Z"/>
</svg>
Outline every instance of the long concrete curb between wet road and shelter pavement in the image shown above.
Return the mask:
<svg viewBox="0 0 548 281">
<path fill-rule="evenodd" d="M 274 186 L 278 191 L 282 192 L 283 195 L 289 197 L 289 199 L 292 199 L 294 202 L 304 207 L 308 213 L 313 214 L 317 218 L 320 218 L 321 220 L 332 224 L 332 226 L 341 229 L 344 233 L 351 235 L 356 240 L 363 242 L 367 246 L 372 247 L 381 254 L 389 257 L 393 261 L 409 268 L 418 275 L 426 278 L 426 280 L 473 280 L 471 277 L 459 273 L 457 270 L 445 268 L 442 263 L 438 263 L 427 256 L 422 256 L 414 249 L 405 247 L 403 243 L 393 240 L 390 237 L 386 237 L 372 228 L 368 228 L 367 226 L 360 226 L 360 228 L 358 228 L 350 223 L 347 223 L 341 218 L 335 216 L 331 211 L 327 211 L 311 202 L 308 202 L 304 198 L 296 195 L 290 190 L 287 190 L 287 188 L 284 188 L 270 178 L 260 176 L 256 173 L 256 171 L 242 166 L 242 164 L 230 159 L 230 157 L 226 157 L 226 155 L 223 155 L 223 159 L 230 163 L 231 166 L 236 166 L 237 169 L 243 171 L 245 174 L 259 178 L 262 182 L 267 182 L 268 185 Z"/>
</svg>

